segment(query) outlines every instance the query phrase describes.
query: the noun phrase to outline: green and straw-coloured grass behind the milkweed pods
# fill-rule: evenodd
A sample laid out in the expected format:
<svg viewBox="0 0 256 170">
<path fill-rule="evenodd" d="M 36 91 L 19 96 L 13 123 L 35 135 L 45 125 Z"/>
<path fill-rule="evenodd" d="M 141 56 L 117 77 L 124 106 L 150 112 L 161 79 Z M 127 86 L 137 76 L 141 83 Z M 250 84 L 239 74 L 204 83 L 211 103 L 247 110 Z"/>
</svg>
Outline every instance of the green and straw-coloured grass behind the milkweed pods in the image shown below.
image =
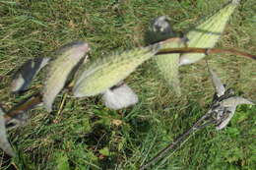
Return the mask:
<svg viewBox="0 0 256 170">
<path fill-rule="evenodd" d="M 187 31 L 225 2 L 0 0 L 1 104 L 11 108 L 25 98 L 9 94 L 9 85 L 13 70 L 30 58 L 50 56 L 75 39 L 91 44 L 91 59 L 145 46 L 145 31 L 155 17 L 166 15 L 176 30 Z M 256 53 L 255 22 L 255 2 L 243 0 L 218 46 Z M 213 55 L 209 63 L 237 93 L 256 99 L 255 62 Z M 32 86 L 42 85 L 43 75 Z M 181 67 L 180 77 L 182 96 L 177 98 L 154 61 L 145 63 L 126 80 L 140 102 L 120 111 L 105 108 L 98 96 L 77 99 L 61 93 L 54 112 L 34 109 L 28 125 L 10 132 L 18 156 L 6 159 L 1 153 L 1 169 L 138 169 L 208 110 L 214 89 L 205 62 Z M 226 129 L 197 133 L 152 169 L 255 169 L 255 112 L 255 106 L 239 106 Z"/>
</svg>

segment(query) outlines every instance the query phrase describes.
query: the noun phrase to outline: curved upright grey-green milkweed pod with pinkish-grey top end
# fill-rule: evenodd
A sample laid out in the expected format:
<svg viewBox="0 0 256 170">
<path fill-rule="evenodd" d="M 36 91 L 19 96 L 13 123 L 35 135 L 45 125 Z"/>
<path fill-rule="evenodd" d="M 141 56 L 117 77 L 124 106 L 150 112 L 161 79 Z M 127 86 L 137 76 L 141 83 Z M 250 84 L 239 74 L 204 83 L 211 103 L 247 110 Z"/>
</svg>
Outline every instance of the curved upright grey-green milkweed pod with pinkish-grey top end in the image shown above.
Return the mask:
<svg viewBox="0 0 256 170">
<path fill-rule="evenodd" d="M 48 112 L 52 111 L 52 103 L 55 97 L 89 51 L 89 44 L 84 41 L 68 43 L 56 51 L 56 58 L 50 63 L 46 83 L 42 91 L 42 101 Z"/>
</svg>

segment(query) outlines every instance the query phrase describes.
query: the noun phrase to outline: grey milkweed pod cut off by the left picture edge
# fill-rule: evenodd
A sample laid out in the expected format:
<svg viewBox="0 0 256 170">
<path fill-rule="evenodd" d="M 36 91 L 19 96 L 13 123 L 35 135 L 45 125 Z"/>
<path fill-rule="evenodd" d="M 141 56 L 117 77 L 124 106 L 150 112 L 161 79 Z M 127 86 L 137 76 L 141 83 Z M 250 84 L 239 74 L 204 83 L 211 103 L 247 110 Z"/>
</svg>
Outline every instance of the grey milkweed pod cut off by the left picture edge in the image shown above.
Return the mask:
<svg viewBox="0 0 256 170">
<path fill-rule="evenodd" d="M 0 148 L 2 148 L 10 156 L 15 155 L 10 142 L 8 142 L 7 140 L 4 111 L 2 110 L 2 108 L 0 108 Z"/>
</svg>

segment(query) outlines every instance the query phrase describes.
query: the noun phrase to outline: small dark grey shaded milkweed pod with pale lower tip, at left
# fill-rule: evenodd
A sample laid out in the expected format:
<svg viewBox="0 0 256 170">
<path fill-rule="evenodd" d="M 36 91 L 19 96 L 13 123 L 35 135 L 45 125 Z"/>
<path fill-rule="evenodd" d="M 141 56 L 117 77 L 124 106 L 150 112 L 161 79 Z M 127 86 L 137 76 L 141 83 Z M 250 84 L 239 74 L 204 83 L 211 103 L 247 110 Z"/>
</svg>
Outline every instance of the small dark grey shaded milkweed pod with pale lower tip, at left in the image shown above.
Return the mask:
<svg viewBox="0 0 256 170">
<path fill-rule="evenodd" d="M 15 73 L 11 84 L 12 92 L 20 92 L 31 85 L 32 79 L 48 64 L 50 58 L 36 57 L 23 64 Z"/>
</svg>

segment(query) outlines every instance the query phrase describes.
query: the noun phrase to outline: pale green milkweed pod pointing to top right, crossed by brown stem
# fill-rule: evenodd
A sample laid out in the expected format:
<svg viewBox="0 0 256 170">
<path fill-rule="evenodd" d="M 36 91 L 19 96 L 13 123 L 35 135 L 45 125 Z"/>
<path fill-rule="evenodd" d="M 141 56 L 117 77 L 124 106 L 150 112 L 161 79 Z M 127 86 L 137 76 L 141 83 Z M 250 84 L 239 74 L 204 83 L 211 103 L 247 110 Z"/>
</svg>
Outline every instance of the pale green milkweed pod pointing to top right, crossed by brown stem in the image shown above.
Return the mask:
<svg viewBox="0 0 256 170">
<path fill-rule="evenodd" d="M 189 39 L 188 47 L 213 48 L 224 32 L 225 25 L 238 4 L 239 0 L 232 0 L 206 22 L 190 30 L 186 34 Z M 183 54 L 180 57 L 179 64 L 195 63 L 204 57 L 205 54 Z"/>
</svg>

